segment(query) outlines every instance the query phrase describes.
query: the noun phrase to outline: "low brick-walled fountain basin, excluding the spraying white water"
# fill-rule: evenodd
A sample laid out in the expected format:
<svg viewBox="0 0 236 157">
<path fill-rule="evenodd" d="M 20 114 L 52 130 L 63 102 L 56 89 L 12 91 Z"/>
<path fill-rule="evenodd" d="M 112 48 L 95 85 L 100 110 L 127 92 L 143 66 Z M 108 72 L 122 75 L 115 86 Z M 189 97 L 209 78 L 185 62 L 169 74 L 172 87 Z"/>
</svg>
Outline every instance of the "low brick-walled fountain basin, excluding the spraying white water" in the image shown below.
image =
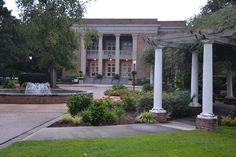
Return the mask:
<svg viewBox="0 0 236 157">
<path fill-rule="evenodd" d="M 0 89 L 0 104 L 61 104 L 68 96 L 83 94 L 93 97 L 93 93 L 76 90 L 51 89 L 51 94 L 25 94 L 24 89 Z"/>
</svg>

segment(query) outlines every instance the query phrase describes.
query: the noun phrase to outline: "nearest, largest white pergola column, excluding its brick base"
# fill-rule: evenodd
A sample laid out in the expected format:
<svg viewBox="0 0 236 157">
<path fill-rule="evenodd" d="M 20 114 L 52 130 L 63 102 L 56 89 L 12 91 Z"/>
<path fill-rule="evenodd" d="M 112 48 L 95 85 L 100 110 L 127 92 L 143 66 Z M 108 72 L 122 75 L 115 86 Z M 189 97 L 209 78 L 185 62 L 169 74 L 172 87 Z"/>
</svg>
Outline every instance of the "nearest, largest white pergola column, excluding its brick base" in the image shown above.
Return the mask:
<svg viewBox="0 0 236 157">
<path fill-rule="evenodd" d="M 202 113 L 203 117 L 214 117 L 213 114 L 213 43 L 205 40 L 203 50 L 203 89 Z"/>
</svg>

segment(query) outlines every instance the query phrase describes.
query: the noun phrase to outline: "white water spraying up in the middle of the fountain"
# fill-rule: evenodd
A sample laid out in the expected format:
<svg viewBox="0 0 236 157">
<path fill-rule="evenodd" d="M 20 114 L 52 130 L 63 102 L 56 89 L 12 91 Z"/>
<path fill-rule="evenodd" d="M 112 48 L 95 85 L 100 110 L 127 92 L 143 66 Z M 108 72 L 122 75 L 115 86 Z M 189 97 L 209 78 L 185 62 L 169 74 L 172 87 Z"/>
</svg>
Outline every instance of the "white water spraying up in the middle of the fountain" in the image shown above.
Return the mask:
<svg viewBox="0 0 236 157">
<path fill-rule="evenodd" d="M 27 83 L 25 94 L 49 95 L 52 94 L 49 83 Z"/>
</svg>

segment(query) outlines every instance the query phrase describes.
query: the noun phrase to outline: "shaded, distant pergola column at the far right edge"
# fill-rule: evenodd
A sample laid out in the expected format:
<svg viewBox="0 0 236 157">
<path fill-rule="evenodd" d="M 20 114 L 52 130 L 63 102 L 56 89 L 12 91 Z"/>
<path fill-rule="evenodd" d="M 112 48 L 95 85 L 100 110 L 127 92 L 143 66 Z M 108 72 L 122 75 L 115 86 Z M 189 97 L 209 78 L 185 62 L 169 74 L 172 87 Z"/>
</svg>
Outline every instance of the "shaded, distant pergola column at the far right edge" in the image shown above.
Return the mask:
<svg viewBox="0 0 236 157">
<path fill-rule="evenodd" d="M 226 79 L 227 79 L 227 96 L 225 98 L 234 99 L 231 64 L 228 65 Z"/>
</svg>

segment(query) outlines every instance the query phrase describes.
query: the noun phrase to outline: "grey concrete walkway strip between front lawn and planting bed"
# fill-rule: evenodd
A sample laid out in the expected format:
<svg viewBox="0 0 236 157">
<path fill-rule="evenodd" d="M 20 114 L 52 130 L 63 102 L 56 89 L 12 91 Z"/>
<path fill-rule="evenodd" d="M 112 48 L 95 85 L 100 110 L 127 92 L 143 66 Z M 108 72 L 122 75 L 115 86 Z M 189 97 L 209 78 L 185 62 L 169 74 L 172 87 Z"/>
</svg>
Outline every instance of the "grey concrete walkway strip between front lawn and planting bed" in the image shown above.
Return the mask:
<svg viewBox="0 0 236 157">
<path fill-rule="evenodd" d="M 68 138 L 101 138 L 115 136 L 140 135 L 148 133 L 194 130 L 195 126 L 170 122 L 166 124 L 129 124 L 98 127 L 43 128 L 24 140 L 49 140 Z"/>
</svg>

